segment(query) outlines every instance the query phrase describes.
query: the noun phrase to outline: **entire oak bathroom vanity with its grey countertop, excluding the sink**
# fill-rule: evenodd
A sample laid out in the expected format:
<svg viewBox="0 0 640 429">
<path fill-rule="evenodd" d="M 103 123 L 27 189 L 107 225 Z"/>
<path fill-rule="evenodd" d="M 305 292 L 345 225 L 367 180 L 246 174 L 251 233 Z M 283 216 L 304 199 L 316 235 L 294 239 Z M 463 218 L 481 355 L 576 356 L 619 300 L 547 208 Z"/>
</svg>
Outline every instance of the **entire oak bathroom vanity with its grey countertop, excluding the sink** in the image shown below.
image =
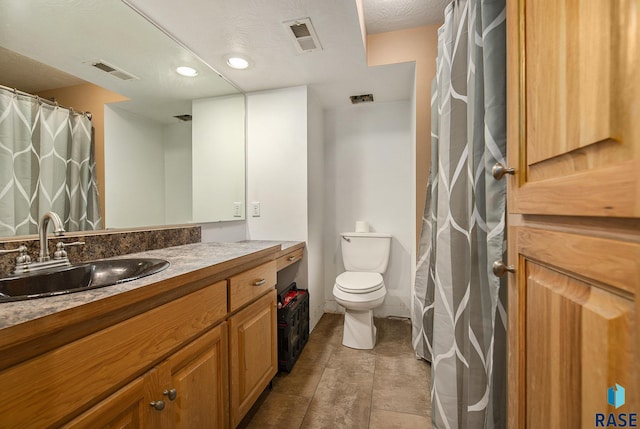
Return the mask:
<svg viewBox="0 0 640 429">
<path fill-rule="evenodd" d="M 154 250 L 152 276 L 0 304 L 0 426 L 237 426 L 277 372 L 277 271 L 303 249 Z"/>
</svg>

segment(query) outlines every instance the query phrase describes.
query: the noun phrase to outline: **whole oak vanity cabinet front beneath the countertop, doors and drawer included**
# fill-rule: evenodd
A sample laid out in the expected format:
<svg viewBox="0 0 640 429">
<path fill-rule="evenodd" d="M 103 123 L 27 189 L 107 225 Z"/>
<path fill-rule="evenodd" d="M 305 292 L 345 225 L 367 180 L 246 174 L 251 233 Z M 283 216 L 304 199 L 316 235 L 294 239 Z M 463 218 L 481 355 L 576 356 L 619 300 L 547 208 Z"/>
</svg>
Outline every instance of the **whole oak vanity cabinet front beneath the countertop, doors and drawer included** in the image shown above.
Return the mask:
<svg viewBox="0 0 640 429">
<path fill-rule="evenodd" d="M 0 369 L 0 427 L 237 426 L 277 373 L 277 262 L 234 271 Z"/>
</svg>

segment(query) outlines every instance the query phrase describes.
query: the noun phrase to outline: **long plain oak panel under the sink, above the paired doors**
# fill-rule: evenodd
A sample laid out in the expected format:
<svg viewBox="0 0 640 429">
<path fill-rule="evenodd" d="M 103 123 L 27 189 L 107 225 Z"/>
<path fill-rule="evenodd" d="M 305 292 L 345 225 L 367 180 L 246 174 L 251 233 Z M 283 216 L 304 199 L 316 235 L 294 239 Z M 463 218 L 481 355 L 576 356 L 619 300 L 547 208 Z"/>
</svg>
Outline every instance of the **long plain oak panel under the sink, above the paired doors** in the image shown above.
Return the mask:
<svg viewBox="0 0 640 429">
<path fill-rule="evenodd" d="M 144 405 L 150 395 L 147 372 L 223 323 L 226 294 L 225 281 L 210 284 L 0 371 L 0 426 L 58 427 L 91 407 L 100 414 L 101 406 L 107 416 L 125 413 L 139 421 L 140 397 L 140 407 L 150 408 Z M 124 391 L 110 397 L 120 386 Z"/>
</svg>

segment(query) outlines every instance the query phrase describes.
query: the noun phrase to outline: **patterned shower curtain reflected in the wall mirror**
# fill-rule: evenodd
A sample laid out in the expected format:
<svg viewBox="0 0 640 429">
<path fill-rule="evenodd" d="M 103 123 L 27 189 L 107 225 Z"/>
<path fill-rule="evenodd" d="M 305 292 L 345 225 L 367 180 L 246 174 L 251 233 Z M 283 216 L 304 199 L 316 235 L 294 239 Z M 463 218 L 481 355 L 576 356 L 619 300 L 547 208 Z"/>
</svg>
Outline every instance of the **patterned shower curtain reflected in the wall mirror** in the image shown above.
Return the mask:
<svg viewBox="0 0 640 429">
<path fill-rule="evenodd" d="M 0 237 L 35 234 L 49 211 L 101 229 L 93 152 L 86 115 L 0 88 Z"/>
</svg>

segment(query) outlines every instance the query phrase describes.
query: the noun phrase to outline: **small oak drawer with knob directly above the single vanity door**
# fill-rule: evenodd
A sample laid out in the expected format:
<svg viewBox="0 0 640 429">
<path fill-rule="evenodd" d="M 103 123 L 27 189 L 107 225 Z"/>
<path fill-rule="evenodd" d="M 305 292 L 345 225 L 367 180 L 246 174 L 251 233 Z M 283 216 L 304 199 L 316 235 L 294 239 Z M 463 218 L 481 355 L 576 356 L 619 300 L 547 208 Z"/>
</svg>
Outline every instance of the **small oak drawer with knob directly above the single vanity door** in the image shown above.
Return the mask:
<svg viewBox="0 0 640 429">
<path fill-rule="evenodd" d="M 276 287 L 276 261 L 270 261 L 229 279 L 229 312 Z"/>
</svg>

